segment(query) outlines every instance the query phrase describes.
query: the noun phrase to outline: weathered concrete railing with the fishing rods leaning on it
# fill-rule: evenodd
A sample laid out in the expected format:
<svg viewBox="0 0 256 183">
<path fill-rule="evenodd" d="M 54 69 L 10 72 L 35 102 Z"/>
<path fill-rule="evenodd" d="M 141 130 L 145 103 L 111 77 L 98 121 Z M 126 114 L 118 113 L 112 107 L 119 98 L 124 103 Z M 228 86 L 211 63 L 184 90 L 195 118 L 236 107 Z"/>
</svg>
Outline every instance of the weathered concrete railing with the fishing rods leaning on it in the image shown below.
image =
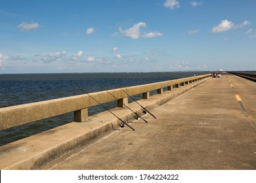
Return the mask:
<svg viewBox="0 0 256 183">
<path fill-rule="evenodd" d="M 0 108 L 0 130 L 51 118 L 68 112 L 74 112 L 74 122 L 85 122 L 88 117 L 88 108 L 96 106 L 98 103 L 103 104 L 117 100 L 117 107 L 123 107 L 123 104 L 127 105 L 128 103 L 126 93 L 130 96 L 142 93 L 142 98 L 148 99 L 151 91 L 157 90 L 158 94 L 161 94 L 163 93 L 163 88 L 172 90 L 173 86 L 179 88 L 180 86 L 202 80 L 208 76 L 211 76 L 211 74 L 131 86 L 122 89 L 119 88 L 108 90 L 108 92 L 89 93 L 91 97 L 88 94 L 83 94 Z"/>
</svg>

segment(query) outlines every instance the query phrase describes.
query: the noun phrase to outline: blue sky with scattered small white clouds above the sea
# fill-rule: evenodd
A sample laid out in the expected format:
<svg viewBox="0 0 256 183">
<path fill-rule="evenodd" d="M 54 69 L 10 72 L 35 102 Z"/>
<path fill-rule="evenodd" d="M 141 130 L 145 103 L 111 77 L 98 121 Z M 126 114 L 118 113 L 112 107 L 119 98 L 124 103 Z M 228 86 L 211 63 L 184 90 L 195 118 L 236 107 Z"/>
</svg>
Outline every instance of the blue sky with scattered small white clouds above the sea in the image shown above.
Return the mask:
<svg viewBox="0 0 256 183">
<path fill-rule="evenodd" d="M 256 70 L 255 0 L 0 2 L 0 73 Z"/>
</svg>

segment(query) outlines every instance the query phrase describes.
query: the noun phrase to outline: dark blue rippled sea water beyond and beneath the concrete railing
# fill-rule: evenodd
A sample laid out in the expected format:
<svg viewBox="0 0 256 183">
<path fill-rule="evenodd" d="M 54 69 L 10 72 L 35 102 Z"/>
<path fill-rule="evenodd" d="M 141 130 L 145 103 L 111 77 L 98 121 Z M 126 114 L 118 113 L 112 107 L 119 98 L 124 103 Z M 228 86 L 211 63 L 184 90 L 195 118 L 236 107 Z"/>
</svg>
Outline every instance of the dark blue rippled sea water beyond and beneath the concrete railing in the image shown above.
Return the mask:
<svg viewBox="0 0 256 183">
<path fill-rule="evenodd" d="M 110 90 L 203 74 L 206 72 L 5 74 L 0 75 L 0 108 L 98 92 L 102 91 L 102 88 Z M 140 99 L 142 95 L 134 97 Z M 116 107 L 116 101 L 104 104 L 104 106 Z M 89 115 L 103 110 L 104 108 L 100 106 L 89 108 Z M 72 120 L 73 112 L 70 112 L 0 131 L 0 146 L 67 124 Z"/>
</svg>

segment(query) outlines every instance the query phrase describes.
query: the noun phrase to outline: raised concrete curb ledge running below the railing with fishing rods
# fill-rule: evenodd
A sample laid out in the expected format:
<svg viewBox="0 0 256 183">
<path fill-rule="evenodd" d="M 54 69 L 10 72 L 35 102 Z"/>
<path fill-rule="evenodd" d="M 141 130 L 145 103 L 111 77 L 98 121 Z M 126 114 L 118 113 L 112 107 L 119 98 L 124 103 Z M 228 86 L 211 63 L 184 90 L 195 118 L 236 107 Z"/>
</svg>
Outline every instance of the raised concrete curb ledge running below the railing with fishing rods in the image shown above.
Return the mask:
<svg viewBox="0 0 256 183">
<path fill-rule="evenodd" d="M 163 94 L 152 95 L 149 99 L 141 99 L 138 102 L 150 110 L 171 101 L 171 99 L 188 92 L 209 79 L 210 77 L 198 80 L 192 84 L 165 91 Z M 139 115 L 143 114 L 143 109 L 137 103 L 129 103 L 128 106 L 138 112 Z M 133 112 L 126 107 L 114 108 L 112 112 L 125 122 L 134 120 Z M 129 124 L 132 125 L 132 123 Z M 83 123 L 71 122 L 49 131 L 11 142 L 0 146 L 0 169 L 39 169 L 41 165 L 56 157 L 63 156 L 63 154 L 94 139 L 98 135 L 118 128 L 119 120 L 110 112 L 105 111 L 89 116 L 87 121 Z M 131 130 L 127 126 L 124 129 Z"/>
</svg>

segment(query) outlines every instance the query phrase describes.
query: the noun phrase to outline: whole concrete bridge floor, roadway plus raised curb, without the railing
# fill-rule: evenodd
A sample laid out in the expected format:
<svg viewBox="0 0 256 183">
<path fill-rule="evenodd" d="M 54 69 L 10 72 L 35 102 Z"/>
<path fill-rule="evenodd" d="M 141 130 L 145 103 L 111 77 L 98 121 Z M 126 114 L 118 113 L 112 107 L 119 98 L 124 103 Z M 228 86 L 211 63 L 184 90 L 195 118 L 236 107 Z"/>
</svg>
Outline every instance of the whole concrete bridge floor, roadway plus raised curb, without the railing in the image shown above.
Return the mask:
<svg viewBox="0 0 256 183">
<path fill-rule="evenodd" d="M 118 127 L 110 112 L 89 116 L 1 146 L 0 168 L 256 169 L 255 82 L 228 74 L 204 78 L 139 103 L 157 119 L 147 113 L 148 124 L 129 120 L 133 131 Z M 129 107 L 142 114 L 137 103 Z M 127 108 L 113 112 L 133 117 Z M 83 143 L 62 151 L 77 141 Z"/>
</svg>

